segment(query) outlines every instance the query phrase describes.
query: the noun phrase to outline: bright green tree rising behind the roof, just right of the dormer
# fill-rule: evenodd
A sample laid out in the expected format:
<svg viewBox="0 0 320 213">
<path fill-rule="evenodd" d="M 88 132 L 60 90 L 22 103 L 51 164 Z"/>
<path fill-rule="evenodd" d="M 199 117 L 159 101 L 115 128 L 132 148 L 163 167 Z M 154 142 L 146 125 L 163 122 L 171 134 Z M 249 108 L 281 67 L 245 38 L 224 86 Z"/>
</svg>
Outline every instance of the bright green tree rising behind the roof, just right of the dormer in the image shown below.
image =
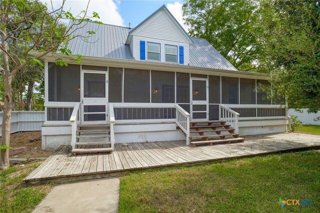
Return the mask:
<svg viewBox="0 0 320 213">
<path fill-rule="evenodd" d="M 237 69 L 259 68 L 259 4 L 252 0 L 187 0 L 182 6 L 189 34 L 205 38 Z"/>
</svg>

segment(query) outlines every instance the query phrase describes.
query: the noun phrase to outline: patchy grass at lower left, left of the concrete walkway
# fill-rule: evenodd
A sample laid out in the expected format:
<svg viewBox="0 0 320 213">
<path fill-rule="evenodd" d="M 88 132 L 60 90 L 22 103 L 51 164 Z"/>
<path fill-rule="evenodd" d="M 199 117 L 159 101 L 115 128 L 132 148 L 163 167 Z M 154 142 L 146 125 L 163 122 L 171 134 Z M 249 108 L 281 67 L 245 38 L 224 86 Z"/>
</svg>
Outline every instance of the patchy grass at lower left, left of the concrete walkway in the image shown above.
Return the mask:
<svg viewBox="0 0 320 213">
<path fill-rule="evenodd" d="M 27 186 L 22 183 L 40 161 L 14 165 L 0 172 L 0 212 L 31 212 L 52 185 Z"/>
</svg>

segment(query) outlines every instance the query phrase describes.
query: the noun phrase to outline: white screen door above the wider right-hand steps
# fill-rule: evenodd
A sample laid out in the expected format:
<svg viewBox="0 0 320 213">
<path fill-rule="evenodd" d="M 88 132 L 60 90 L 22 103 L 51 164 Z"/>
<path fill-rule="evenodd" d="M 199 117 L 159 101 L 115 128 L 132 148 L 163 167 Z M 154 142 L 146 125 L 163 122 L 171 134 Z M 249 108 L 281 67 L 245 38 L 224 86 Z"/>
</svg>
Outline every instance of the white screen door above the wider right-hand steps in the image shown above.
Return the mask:
<svg viewBox="0 0 320 213">
<path fill-rule="evenodd" d="M 191 78 L 191 120 L 208 120 L 208 80 Z"/>
</svg>

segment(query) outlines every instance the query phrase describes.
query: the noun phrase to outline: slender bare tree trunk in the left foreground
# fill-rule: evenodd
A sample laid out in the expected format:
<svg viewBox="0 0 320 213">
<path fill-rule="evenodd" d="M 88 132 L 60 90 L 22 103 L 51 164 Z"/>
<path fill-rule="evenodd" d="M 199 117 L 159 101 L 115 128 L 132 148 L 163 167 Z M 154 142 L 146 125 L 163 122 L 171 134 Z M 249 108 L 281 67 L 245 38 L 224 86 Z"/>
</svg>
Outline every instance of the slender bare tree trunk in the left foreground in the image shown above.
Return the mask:
<svg viewBox="0 0 320 213">
<path fill-rule="evenodd" d="M 4 33 L 1 33 L 1 39 L 5 40 Z M 7 43 L 2 43 L 2 47 L 7 50 Z M 1 145 L 10 145 L 10 129 L 11 129 L 11 74 L 9 70 L 9 58 L 3 53 L 3 65 L 4 65 L 4 106 L 3 106 L 3 117 L 2 117 L 2 135 Z M 0 170 L 4 170 L 9 167 L 9 149 L 1 148 L 0 151 Z"/>
</svg>

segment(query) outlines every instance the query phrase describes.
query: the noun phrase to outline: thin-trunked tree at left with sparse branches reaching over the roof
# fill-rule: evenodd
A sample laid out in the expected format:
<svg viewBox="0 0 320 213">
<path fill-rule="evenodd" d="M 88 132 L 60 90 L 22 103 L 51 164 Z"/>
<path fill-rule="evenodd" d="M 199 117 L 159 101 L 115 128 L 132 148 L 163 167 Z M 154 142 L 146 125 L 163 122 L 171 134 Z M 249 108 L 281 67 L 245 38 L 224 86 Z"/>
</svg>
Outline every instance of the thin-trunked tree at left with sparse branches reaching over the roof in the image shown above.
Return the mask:
<svg viewBox="0 0 320 213">
<path fill-rule="evenodd" d="M 83 10 L 78 15 L 72 15 L 69 11 L 63 10 L 65 0 L 62 0 L 59 8 L 53 8 L 49 11 L 45 4 L 39 0 L 0 0 L 0 50 L 3 64 L 4 78 L 4 106 L 2 120 L 1 145 L 9 146 L 10 141 L 10 122 L 12 110 L 12 78 L 28 64 L 42 65 L 39 58 L 56 50 L 70 55 L 71 51 L 67 49 L 68 42 L 76 36 L 76 31 L 80 29 L 79 24 L 86 18 L 90 18 Z M 92 17 L 99 18 L 96 12 Z M 71 19 L 72 21 L 61 32 L 58 29 L 59 22 L 62 19 Z M 50 20 L 50 21 L 49 21 Z M 51 21 L 53 20 L 53 21 Z M 96 21 L 98 22 L 98 21 Z M 88 31 L 88 36 L 93 31 Z M 85 37 L 84 37 L 85 38 Z M 23 49 L 22 56 L 11 53 L 9 43 L 19 42 L 19 47 Z M 31 50 L 37 50 L 38 54 L 31 56 L 28 53 Z M 71 57 L 71 61 L 80 62 L 81 55 Z M 10 63 L 13 67 L 10 69 Z M 61 58 L 56 59 L 56 64 L 67 65 L 67 62 Z M 0 151 L 0 170 L 9 166 L 9 153 L 7 149 Z"/>
</svg>

